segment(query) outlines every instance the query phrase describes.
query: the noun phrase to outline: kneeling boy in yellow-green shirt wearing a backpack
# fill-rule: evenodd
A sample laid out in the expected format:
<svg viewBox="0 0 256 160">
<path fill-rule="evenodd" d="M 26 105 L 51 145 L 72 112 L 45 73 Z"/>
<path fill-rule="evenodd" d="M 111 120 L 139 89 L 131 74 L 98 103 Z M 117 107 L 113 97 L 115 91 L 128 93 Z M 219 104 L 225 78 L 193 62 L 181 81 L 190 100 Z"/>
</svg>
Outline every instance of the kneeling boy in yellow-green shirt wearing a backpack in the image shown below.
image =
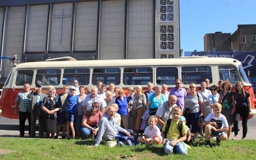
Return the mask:
<svg viewBox="0 0 256 160">
<path fill-rule="evenodd" d="M 182 110 L 179 107 L 172 109 L 172 121 L 170 128 L 166 131 L 167 121 L 164 123 L 161 136 L 163 137 L 164 152 L 166 154 L 172 154 L 173 148 L 177 151 L 177 154 L 188 154 L 188 148 L 182 143 L 186 141 L 187 129 L 186 124 L 182 123 L 181 134 L 179 131 L 179 118 L 182 116 Z"/>
</svg>

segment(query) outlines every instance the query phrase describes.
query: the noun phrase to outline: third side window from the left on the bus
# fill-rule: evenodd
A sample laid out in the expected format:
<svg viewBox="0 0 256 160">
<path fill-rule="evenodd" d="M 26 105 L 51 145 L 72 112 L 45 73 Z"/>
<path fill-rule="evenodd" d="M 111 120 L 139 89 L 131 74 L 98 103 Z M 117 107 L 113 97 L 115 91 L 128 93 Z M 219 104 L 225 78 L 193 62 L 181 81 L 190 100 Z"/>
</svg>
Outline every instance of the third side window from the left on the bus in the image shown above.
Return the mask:
<svg viewBox="0 0 256 160">
<path fill-rule="evenodd" d="M 64 69 L 62 84 L 73 85 L 73 81 L 77 80 L 79 85 L 88 85 L 90 79 L 89 68 L 70 68 Z"/>
</svg>

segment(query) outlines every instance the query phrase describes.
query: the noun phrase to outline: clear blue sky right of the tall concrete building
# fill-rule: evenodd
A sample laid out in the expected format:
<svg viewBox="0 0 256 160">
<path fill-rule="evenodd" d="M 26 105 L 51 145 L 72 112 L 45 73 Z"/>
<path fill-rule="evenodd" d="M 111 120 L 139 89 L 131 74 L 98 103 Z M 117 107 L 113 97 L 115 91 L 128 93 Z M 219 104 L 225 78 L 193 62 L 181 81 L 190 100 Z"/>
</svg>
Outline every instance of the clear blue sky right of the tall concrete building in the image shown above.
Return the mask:
<svg viewBox="0 0 256 160">
<path fill-rule="evenodd" d="M 234 33 L 238 24 L 256 24 L 256 0 L 179 0 L 180 49 L 204 51 L 207 33 Z"/>
</svg>

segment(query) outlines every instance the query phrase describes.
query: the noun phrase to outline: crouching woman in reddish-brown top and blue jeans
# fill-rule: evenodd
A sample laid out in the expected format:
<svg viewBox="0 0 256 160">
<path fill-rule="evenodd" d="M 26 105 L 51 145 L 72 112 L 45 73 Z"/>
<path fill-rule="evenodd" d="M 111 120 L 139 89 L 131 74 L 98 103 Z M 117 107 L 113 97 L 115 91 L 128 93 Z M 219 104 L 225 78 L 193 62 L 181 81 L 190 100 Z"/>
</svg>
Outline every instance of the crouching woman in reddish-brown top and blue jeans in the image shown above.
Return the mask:
<svg viewBox="0 0 256 160">
<path fill-rule="evenodd" d="M 84 113 L 82 120 L 81 133 L 83 136 L 90 136 L 91 132 L 93 136 L 96 136 L 99 130 L 99 120 L 102 117 L 102 113 L 99 111 L 100 104 L 98 102 L 92 103 L 92 108 Z"/>
</svg>

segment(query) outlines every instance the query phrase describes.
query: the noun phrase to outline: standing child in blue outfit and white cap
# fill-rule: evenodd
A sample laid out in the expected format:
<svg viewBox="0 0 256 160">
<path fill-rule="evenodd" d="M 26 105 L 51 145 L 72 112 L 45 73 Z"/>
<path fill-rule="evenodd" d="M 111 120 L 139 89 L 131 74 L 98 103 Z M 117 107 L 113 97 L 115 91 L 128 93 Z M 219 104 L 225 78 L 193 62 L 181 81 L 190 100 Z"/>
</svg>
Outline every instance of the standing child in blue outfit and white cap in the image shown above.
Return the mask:
<svg viewBox="0 0 256 160">
<path fill-rule="evenodd" d="M 67 138 L 69 138 L 69 131 L 71 129 L 72 138 L 75 137 L 74 121 L 76 117 L 76 104 L 79 97 L 76 95 L 76 86 L 70 87 L 70 95 L 67 96 L 67 111 L 66 111 L 66 120 L 67 120 Z"/>
</svg>

